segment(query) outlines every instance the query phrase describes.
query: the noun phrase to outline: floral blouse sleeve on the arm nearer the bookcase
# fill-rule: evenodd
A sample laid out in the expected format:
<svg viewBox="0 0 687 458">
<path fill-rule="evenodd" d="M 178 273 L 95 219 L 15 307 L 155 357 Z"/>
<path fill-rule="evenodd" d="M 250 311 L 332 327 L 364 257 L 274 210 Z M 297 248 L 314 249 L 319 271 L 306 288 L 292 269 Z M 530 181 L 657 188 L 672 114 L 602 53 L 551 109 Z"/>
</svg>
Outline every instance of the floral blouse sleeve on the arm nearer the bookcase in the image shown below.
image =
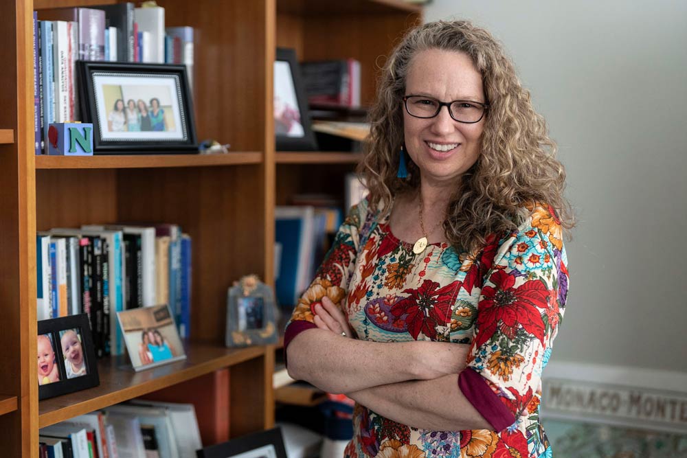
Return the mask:
<svg viewBox="0 0 687 458">
<path fill-rule="evenodd" d="M 317 269 L 315 279 L 300 297 L 291 314 L 284 333 L 284 351 L 297 334 L 315 328 L 313 307 L 323 297 L 329 297 L 334 304 L 339 304 L 346 297 L 359 250 L 361 227 L 365 224 L 367 214 L 366 199 L 351 207 L 324 262 Z"/>
</svg>

